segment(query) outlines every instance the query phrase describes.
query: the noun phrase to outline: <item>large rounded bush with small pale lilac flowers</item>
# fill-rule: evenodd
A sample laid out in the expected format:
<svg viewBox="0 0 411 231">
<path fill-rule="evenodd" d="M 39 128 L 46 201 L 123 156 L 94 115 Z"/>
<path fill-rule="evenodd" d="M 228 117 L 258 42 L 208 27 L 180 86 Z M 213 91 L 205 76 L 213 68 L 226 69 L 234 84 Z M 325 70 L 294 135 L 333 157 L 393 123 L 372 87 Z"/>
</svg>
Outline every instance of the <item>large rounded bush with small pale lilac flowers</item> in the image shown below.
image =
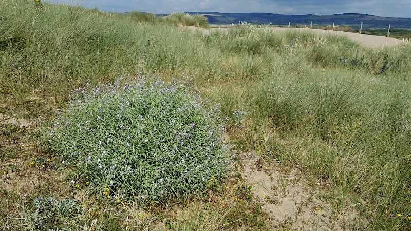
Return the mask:
<svg viewBox="0 0 411 231">
<path fill-rule="evenodd" d="M 105 196 L 161 201 L 200 194 L 227 171 L 216 107 L 182 84 L 101 84 L 76 97 L 49 134 L 78 179 Z M 78 97 L 77 97 L 78 96 Z"/>
</svg>

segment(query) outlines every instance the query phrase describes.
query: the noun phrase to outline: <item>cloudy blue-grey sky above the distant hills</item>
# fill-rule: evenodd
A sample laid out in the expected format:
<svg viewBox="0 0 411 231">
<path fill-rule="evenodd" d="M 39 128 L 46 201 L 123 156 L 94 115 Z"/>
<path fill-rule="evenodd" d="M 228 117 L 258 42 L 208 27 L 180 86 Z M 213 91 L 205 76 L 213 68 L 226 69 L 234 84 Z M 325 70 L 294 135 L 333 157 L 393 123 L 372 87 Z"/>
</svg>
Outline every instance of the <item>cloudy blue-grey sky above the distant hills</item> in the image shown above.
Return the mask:
<svg viewBox="0 0 411 231">
<path fill-rule="evenodd" d="M 411 0 L 44 0 L 105 12 L 141 11 L 173 13 L 339 14 L 363 13 L 386 17 L 411 17 Z"/>
</svg>

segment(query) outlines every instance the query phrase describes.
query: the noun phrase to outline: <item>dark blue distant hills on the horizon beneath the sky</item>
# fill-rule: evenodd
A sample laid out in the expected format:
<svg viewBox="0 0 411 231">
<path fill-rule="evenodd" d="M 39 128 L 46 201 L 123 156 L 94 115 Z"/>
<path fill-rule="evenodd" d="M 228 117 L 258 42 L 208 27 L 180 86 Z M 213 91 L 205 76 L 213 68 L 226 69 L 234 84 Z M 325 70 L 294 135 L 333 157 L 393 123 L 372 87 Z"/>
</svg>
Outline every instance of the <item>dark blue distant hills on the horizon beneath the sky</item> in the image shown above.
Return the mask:
<svg viewBox="0 0 411 231">
<path fill-rule="evenodd" d="M 210 24 L 238 24 L 247 22 L 251 24 L 273 24 L 273 25 L 292 25 L 302 24 L 309 25 L 349 25 L 354 29 L 360 28 L 363 22 L 363 28 L 408 28 L 411 29 L 411 18 L 401 17 L 380 17 L 369 14 L 333 14 L 333 15 L 286 15 L 272 13 L 218 13 L 218 12 L 185 12 L 188 14 L 201 14 L 208 18 Z M 165 16 L 167 14 L 157 14 Z"/>
</svg>

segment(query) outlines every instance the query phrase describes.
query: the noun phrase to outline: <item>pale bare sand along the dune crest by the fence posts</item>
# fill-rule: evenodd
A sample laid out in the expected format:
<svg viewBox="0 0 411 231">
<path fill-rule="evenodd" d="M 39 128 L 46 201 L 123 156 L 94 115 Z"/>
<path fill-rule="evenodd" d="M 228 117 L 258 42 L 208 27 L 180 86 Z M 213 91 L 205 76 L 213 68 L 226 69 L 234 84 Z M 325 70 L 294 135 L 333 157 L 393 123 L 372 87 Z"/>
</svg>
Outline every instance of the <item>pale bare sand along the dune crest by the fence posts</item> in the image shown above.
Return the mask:
<svg viewBox="0 0 411 231">
<path fill-rule="evenodd" d="M 193 30 L 200 30 L 203 32 L 204 35 L 208 35 L 210 32 L 213 31 L 227 31 L 227 28 L 212 28 L 210 30 L 197 28 L 194 26 L 188 27 Z M 398 40 L 396 38 L 391 37 L 383 37 L 383 36 L 375 36 L 375 35 L 368 35 L 368 34 L 359 34 L 359 33 L 351 33 L 351 32 L 344 32 L 344 31 L 332 31 L 332 30 L 320 30 L 320 29 L 308 29 L 308 28 L 279 28 L 273 27 L 271 28 L 273 32 L 276 31 L 287 31 L 287 30 L 296 30 L 296 31 L 311 31 L 318 34 L 335 34 L 340 36 L 348 37 L 350 40 L 360 43 L 365 47 L 381 47 L 381 46 L 394 46 L 399 45 L 401 43 L 405 43 L 402 40 Z"/>
</svg>

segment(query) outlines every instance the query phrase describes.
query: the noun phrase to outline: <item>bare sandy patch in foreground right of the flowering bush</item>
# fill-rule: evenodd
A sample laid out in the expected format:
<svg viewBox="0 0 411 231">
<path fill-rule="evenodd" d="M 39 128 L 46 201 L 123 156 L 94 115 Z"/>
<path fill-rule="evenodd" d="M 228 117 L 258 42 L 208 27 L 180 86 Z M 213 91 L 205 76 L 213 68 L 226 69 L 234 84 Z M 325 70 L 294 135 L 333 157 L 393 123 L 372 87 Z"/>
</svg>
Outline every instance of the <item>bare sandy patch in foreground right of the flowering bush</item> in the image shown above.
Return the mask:
<svg viewBox="0 0 411 231">
<path fill-rule="evenodd" d="M 346 230 L 357 214 L 347 209 L 332 219 L 331 205 L 318 198 L 298 170 L 288 172 L 261 162 L 255 152 L 241 153 L 242 174 L 252 186 L 253 201 L 270 217 L 270 228 L 291 230 Z M 349 207 L 349 206 L 348 206 Z"/>
</svg>

